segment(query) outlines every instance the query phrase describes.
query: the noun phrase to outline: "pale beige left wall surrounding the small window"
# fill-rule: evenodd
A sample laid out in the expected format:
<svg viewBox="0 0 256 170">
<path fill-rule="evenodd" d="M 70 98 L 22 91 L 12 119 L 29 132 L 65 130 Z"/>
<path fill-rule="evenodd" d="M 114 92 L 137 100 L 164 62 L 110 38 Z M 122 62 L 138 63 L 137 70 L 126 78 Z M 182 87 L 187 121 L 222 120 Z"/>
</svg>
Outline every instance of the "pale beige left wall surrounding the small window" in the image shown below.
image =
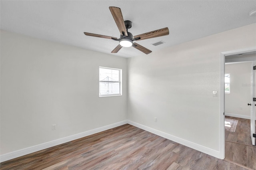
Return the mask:
<svg viewBox="0 0 256 170">
<path fill-rule="evenodd" d="M 127 119 L 126 58 L 2 30 L 0 54 L 1 155 Z M 99 98 L 99 66 L 122 69 L 122 96 Z"/>
</svg>

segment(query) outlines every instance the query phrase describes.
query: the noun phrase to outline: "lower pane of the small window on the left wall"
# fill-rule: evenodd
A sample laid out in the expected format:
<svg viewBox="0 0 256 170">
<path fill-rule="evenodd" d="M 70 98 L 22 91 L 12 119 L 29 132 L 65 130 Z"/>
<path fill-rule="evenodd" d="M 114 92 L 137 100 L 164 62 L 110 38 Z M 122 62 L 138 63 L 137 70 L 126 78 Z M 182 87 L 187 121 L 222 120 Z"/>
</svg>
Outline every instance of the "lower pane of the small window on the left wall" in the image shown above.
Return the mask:
<svg viewBox="0 0 256 170">
<path fill-rule="evenodd" d="M 119 93 L 119 83 L 100 82 L 100 95 L 114 95 Z"/>
</svg>

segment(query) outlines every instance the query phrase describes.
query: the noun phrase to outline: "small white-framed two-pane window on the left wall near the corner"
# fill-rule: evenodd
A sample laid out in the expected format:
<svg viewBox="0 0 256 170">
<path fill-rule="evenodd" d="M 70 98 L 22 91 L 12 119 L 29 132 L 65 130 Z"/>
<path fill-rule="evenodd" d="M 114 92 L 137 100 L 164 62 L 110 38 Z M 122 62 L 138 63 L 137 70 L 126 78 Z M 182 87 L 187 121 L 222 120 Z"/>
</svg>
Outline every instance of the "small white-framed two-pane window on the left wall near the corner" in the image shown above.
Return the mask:
<svg viewBox="0 0 256 170">
<path fill-rule="evenodd" d="M 122 69 L 100 67 L 100 97 L 122 95 Z"/>
</svg>

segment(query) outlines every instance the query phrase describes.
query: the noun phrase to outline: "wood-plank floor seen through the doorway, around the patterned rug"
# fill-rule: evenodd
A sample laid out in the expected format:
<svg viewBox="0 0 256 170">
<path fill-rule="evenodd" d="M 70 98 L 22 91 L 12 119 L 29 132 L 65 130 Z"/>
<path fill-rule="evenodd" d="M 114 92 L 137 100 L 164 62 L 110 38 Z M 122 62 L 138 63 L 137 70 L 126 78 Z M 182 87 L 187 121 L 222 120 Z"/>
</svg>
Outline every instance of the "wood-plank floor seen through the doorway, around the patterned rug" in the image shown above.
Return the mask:
<svg viewBox="0 0 256 170">
<path fill-rule="evenodd" d="M 256 146 L 251 141 L 250 120 L 227 118 L 237 119 L 238 125 L 235 132 L 225 131 L 225 158 L 256 170 Z"/>
</svg>

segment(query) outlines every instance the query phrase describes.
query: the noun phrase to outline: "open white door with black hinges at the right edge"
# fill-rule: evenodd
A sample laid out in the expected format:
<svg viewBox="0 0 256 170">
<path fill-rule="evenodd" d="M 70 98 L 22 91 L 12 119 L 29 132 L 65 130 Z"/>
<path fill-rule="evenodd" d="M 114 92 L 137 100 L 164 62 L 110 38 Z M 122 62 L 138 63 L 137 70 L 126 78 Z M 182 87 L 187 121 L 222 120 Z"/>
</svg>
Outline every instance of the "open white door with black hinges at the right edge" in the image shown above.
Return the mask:
<svg viewBox="0 0 256 170">
<path fill-rule="evenodd" d="M 252 71 L 251 71 L 251 138 L 252 138 L 252 144 L 255 145 L 255 137 L 253 134 L 255 134 L 255 107 L 256 102 L 253 101 L 253 98 L 256 98 L 255 96 L 255 71 L 253 67 L 256 66 L 256 61 L 252 62 Z"/>
</svg>

